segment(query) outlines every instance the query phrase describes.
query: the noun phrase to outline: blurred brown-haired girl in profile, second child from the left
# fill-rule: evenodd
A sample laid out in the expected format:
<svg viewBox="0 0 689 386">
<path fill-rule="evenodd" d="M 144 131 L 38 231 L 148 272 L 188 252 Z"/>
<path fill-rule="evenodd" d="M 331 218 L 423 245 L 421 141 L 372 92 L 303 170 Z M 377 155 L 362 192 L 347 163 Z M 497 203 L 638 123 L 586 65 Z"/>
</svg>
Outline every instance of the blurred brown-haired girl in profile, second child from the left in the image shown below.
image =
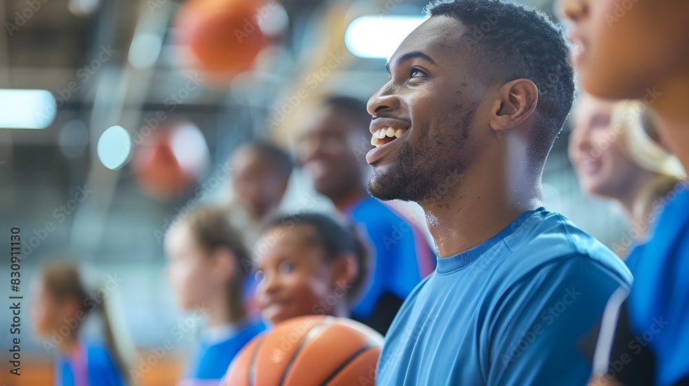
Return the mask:
<svg viewBox="0 0 689 386">
<path fill-rule="evenodd" d="M 207 325 L 189 360 L 183 385 L 218 385 L 232 358 L 258 333 L 243 304 L 251 263 L 227 213 L 205 208 L 192 212 L 165 238 L 167 278 L 181 308 L 207 309 Z"/>
</svg>

